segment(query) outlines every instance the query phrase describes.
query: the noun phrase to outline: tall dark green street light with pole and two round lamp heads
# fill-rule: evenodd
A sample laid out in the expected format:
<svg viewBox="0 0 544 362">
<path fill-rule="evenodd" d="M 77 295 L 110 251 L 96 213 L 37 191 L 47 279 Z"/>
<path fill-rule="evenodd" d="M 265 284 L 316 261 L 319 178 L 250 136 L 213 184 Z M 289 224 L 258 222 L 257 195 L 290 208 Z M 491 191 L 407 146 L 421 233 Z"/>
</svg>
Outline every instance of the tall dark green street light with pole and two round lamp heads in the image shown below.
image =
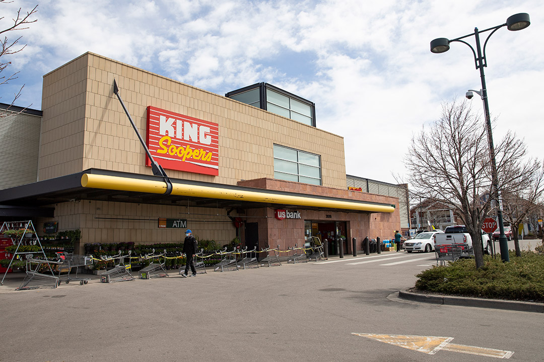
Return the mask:
<svg viewBox="0 0 544 362">
<path fill-rule="evenodd" d="M 502 211 L 503 207 L 502 207 L 502 202 L 500 202 L 500 190 L 498 187 L 498 177 L 497 177 L 497 162 L 495 159 L 495 148 L 493 145 L 493 134 L 491 131 L 489 103 L 487 102 L 487 87 L 485 85 L 485 74 L 484 74 L 484 67 L 487 67 L 487 60 L 485 58 L 485 47 L 491 35 L 493 35 L 493 33 L 497 31 L 498 29 L 506 26 L 508 30 L 517 31 L 517 30 L 522 30 L 527 28 L 530 25 L 530 23 L 531 22 L 529 19 L 529 14 L 522 12 L 520 14 L 515 14 L 510 16 L 508 19 L 506 19 L 506 23 L 500 24 L 496 27 L 492 27 L 482 31 L 479 31 L 478 28 L 474 28 L 474 33 L 461 36 L 453 40 L 448 40 L 446 38 L 438 38 L 431 41 L 432 53 L 447 52 L 449 50 L 449 44 L 454 41 L 466 44 L 472 50 L 476 69 L 480 69 L 480 79 L 481 79 L 480 96 L 484 101 L 484 113 L 485 113 L 485 121 L 486 121 L 486 128 L 487 128 L 487 141 L 489 143 L 489 155 L 491 158 L 491 184 L 493 188 L 492 189 L 493 197 L 496 199 L 498 204 L 497 218 L 498 218 L 499 231 L 500 231 L 500 237 L 499 237 L 500 258 L 503 260 L 503 262 L 509 262 L 510 256 L 508 255 L 508 239 L 506 239 L 506 235 L 504 234 L 503 211 Z M 489 31 L 489 30 L 492 30 L 492 31 L 491 31 L 491 34 L 487 36 L 484 42 L 484 48 L 482 52 L 482 49 L 480 46 L 480 33 L 485 33 L 486 31 Z M 476 40 L 476 51 L 474 51 L 474 48 L 469 43 L 462 40 L 472 35 L 474 35 Z"/>
</svg>

